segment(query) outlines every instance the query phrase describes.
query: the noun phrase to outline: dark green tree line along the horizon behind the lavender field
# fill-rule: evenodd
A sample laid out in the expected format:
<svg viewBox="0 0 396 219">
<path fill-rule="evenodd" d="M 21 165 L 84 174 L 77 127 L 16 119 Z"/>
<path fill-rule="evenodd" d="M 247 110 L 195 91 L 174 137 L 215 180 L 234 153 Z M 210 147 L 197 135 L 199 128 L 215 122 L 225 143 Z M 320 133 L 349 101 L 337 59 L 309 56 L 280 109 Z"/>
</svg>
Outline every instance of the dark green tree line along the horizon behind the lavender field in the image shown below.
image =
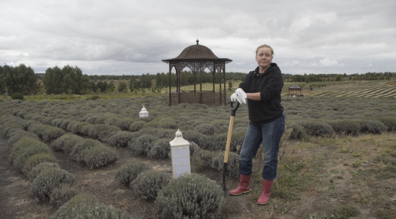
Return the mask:
<svg viewBox="0 0 396 219">
<path fill-rule="evenodd" d="M 284 74 L 285 82 L 322 82 L 322 81 L 342 81 L 342 80 L 383 80 L 393 78 L 395 73 L 364 73 L 364 74 Z M 227 81 L 244 80 L 247 73 L 226 73 Z M 35 74 L 31 67 L 24 64 L 12 67 L 8 65 L 0 66 L 0 92 L 4 93 L 8 89 L 9 94 L 16 92 L 23 95 L 37 94 L 45 90 L 47 94 L 78 94 L 84 95 L 91 92 L 110 92 L 118 90 L 120 92 L 129 88 L 130 91 L 141 88 L 151 90 L 164 87 L 176 86 L 176 74 L 171 73 L 169 84 L 169 73 L 142 74 L 142 75 L 87 75 L 77 66 L 64 66 L 62 69 L 55 66 L 48 68 L 46 72 Z M 40 83 L 42 79 L 43 84 Z M 223 75 L 221 75 L 223 79 Z M 115 80 L 118 81 L 115 82 Z M 200 83 L 199 73 L 194 80 L 191 71 L 180 73 L 180 85 L 191 85 Z M 214 82 L 219 83 L 219 74 L 214 75 Z M 202 83 L 213 83 L 213 74 L 202 72 Z M 222 81 L 222 83 L 224 83 Z M 117 87 L 116 87 L 117 86 Z"/>
</svg>

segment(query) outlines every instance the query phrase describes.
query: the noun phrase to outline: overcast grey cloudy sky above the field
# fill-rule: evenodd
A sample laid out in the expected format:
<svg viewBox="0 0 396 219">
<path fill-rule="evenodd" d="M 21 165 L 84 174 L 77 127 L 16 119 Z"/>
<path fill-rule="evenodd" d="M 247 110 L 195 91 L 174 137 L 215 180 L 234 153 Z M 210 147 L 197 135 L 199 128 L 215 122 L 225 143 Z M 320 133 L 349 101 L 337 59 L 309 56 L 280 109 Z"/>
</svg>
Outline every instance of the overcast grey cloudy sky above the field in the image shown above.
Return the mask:
<svg viewBox="0 0 396 219">
<path fill-rule="evenodd" d="M 395 10 L 396 0 L 0 0 L 0 62 L 155 74 L 198 38 L 233 60 L 227 72 L 254 70 L 261 44 L 282 73 L 396 72 Z"/>
</svg>

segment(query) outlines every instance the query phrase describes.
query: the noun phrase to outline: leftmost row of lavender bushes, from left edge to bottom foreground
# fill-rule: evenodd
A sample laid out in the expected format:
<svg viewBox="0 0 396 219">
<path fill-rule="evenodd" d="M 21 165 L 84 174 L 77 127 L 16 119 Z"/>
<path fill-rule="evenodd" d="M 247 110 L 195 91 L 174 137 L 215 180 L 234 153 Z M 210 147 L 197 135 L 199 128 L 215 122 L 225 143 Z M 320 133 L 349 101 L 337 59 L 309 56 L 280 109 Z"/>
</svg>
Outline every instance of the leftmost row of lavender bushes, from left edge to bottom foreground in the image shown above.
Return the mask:
<svg viewBox="0 0 396 219">
<path fill-rule="evenodd" d="M 79 194 L 75 177 L 61 169 L 50 147 L 38 135 L 23 130 L 20 117 L 0 110 L 0 129 L 9 138 L 9 160 L 13 167 L 31 182 L 30 195 L 37 201 L 49 201 L 59 210 L 52 219 L 77 218 L 79 215 L 96 215 L 98 219 L 112 215 L 113 219 L 131 219 L 117 208 L 102 204 L 91 194 Z M 19 125 L 19 126 L 18 126 Z M 41 139 L 50 140 L 57 134 L 42 126 Z M 49 134 L 52 133 L 52 134 Z"/>
</svg>

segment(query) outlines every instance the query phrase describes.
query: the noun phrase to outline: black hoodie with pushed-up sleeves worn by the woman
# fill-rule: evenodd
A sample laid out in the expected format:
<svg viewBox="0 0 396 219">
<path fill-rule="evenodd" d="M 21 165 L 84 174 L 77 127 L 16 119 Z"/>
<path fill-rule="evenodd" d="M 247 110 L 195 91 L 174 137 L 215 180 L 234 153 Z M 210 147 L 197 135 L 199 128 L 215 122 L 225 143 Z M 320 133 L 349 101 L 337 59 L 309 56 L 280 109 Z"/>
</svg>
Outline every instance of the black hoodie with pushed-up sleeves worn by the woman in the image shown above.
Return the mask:
<svg viewBox="0 0 396 219">
<path fill-rule="evenodd" d="M 271 63 L 264 73 L 251 71 L 239 88 L 246 93 L 260 92 L 260 101 L 247 100 L 249 120 L 252 125 L 264 125 L 275 121 L 283 114 L 281 91 L 283 88 L 282 73 L 276 63 Z"/>
</svg>

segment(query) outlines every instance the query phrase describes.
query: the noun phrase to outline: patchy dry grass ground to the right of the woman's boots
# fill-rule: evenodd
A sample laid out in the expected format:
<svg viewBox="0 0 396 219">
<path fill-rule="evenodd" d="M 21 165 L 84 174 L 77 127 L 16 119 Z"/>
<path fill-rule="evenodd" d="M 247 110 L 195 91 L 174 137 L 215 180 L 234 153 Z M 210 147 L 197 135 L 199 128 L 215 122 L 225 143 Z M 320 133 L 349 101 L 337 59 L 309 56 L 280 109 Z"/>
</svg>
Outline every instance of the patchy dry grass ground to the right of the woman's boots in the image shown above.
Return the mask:
<svg viewBox="0 0 396 219">
<path fill-rule="evenodd" d="M 287 143 L 278 165 L 280 177 L 274 181 L 272 193 L 273 201 L 281 200 L 284 206 L 282 211 L 279 205 L 274 208 L 274 218 L 283 215 L 295 218 L 296 211 L 304 212 L 296 208 L 306 205 L 309 206 L 306 211 L 311 213 L 299 215 L 304 219 L 395 218 L 396 203 L 386 200 L 396 194 L 396 158 L 392 156 L 396 152 L 393 147 L 396 135 L 348 138 L 311 138 L 303 143 Z M 334 144 L 327 144 L 329 141 Z M 312 146 L 301 150 L 301 144 Z M 255 165 L 255 174 L 260 176 L 261 169 Z M 252 196 L 254 202 L 255 195 Z"/>
</svg>

